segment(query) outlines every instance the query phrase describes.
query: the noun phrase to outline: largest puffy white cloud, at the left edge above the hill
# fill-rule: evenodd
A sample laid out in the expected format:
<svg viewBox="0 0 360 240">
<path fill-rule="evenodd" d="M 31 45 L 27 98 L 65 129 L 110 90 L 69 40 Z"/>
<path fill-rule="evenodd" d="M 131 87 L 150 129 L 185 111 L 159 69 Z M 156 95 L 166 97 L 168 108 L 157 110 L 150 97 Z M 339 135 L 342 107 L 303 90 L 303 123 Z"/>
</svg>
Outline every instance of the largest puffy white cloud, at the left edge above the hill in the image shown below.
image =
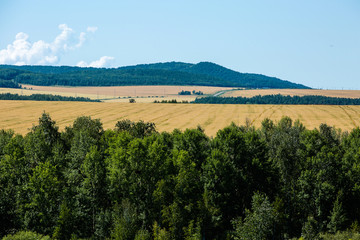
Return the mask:
<svg viewBox="0 0 360 240">
<path fill-rule="evenodd" d="M 88 27 L 87 33 L 81 32 L 79 35 L 66 24 L 60 24 L 59 29 L 61 33 L 51 43 L 43 40 L 32 43 L 26 33 L 16 34 L 15 40 L 7 48 L 0 50 L 0 64 L 57 64 L 64 53 L 80 48 L 86 41 L 87 34 L 94 33 L 97 27 Z"/>
</svg>

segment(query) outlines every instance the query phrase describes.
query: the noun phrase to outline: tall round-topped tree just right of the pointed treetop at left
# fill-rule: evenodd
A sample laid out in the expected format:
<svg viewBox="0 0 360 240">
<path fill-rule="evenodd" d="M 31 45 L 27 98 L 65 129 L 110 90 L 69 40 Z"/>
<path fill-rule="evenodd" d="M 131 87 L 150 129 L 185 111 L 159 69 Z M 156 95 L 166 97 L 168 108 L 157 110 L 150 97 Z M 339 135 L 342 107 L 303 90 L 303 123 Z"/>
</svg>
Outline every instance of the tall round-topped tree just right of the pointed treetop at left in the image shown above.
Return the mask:
<svg viewBox="0 0 360 240">
<path fill-rule="evenodd" d="M 98 119 L 79 117 L 63 134 L 67 146 L 64 181 L 68 186 L 64 200 L 73 222 L 68 229 L 78 237 L 95 235 L 109 207 L 106 166 L 102 137 L 104 130 Z M 106 224 L 106 222 L 105 222 Z"/>
</svg>

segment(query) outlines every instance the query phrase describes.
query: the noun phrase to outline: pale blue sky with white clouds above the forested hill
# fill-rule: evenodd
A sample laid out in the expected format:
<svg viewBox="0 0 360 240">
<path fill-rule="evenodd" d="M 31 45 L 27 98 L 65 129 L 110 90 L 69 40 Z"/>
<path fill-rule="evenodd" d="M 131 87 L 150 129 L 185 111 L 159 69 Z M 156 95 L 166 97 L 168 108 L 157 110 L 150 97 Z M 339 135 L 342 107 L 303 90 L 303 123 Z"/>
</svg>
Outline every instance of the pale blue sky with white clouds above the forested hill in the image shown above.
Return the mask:
<svg viewBox="0 0 360 240">
<path fill-rule="evenodd" d="M 0 64 L 214 62 L 360 89 L 359 0 L 0 0 Z"/>
</svg>

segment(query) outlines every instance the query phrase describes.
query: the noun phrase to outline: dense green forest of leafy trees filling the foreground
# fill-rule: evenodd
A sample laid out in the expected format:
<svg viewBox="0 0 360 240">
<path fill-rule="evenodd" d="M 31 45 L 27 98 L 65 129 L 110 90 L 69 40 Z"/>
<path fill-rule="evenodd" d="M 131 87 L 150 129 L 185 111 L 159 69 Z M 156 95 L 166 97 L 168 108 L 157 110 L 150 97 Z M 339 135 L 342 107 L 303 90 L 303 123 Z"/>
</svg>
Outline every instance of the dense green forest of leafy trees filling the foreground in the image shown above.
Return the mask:
<svg viewBox="0 0 360 240">
<path fill-rule="evenodd" d="M 3 239 L 360 239 L 360 129 L 0 130 Z M 27 237 L 27 238 L 26 238 Z M 30 238 L 32 237 L 32 238 Z"/>
</svg>

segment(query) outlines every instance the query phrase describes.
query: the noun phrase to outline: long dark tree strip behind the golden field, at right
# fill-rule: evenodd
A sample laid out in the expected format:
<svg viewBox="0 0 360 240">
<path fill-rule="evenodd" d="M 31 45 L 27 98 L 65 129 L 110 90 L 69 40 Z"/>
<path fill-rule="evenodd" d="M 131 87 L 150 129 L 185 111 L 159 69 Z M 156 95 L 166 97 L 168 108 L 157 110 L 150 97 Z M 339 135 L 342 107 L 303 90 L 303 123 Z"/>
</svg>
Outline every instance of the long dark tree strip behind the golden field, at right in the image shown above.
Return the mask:
<svg viewBox="0 0 360 240">
<path fill-rule="evenodd" d="M 196 98 L 193 103 L 209 104 L 291 104 L 291 105 L 360 105 L 360 98 L 337 98 L 316 95 L 284 96 L 258 95 L 248 97 L 202 97 Z"/>
</svg>

